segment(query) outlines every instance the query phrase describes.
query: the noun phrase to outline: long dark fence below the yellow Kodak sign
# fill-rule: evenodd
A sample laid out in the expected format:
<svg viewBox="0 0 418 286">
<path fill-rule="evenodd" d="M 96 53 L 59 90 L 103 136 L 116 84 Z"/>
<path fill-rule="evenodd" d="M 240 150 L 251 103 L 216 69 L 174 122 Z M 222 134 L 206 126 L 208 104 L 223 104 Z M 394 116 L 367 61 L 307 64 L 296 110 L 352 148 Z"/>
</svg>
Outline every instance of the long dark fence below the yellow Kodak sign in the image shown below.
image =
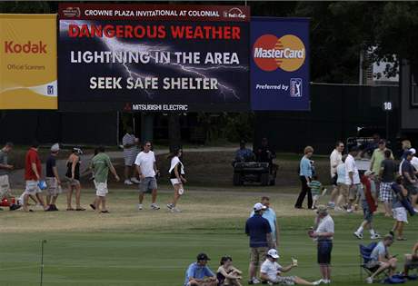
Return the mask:
<svg viewBox="0 0 418 286">
<path fill-rule="evenodd" d="M 0 129 L 0 143 L 117 143 L 116 113 L 3 111 Z"/>
</svg>

